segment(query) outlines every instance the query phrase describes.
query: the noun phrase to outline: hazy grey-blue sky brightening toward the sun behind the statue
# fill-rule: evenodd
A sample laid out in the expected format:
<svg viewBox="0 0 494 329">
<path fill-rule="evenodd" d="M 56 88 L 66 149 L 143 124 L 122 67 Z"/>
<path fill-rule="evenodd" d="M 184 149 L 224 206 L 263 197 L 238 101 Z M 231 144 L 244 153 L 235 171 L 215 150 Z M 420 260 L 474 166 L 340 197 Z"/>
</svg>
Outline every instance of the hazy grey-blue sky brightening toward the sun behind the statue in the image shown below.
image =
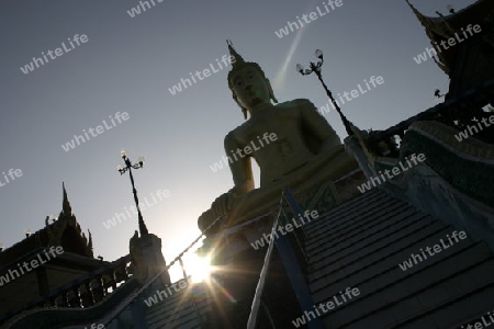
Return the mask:
<svg viewBox="0 0 494 329">
<path fill-rule="evenodd" d="M 436 89 L 448 89 L 448 77 L 433 60 L 414 60 L 430 43 L 404 0 L 343 0 L 329 12 L 319 0 L 148 2 L 139 14 L 132 11 L 139 7 L 135 0 L 0 2 L 0 172 L 18 173 L 7 175 L 9 182 L 0 174 L 4 247 L 23 239 L 25 229 L 41 229 L 47 215 L 58 215 L 65 182 L 72 212 L 92 232 L 94 256 L 112 261 L 127 254 L 137 218 L 125 215 L 134 201 L 128 174 L 115 169 L 122 149 L 133 161 L 146 158 L 134 178 L 139 198 L 150 205 L 143 211 L 145 222 L 161 238 L 166 260 L 195 239 L 198 217 L 233 186 L 228 168 L 211 167 L 224 155 L 224 136 L 244 122 L 227 87 L 231 67 L 216 61 L 227 55 L 225 39 L 263 68 L 280 102 L 327 104 L 315 75 L 295 70 L 316 60 L 317 48 L 335 95 L 382 77 L 382 84 L 341 105 L 362 129 L 406 120 L 441 101 L 434 98 Z M 474 1 L 412 2 L 437 16 L 436 11 L 447 14 L 448 4 L 460 10 Z M 317 19 L 277 35 L 313 11 Z M 46 63 L 32 64 L 43 55 Z M 190 72 L 211 66 L 211 76 L 170 92 Z M 346 137 L 335 111 L 325 118 Z M 77 145 L 75 135 L 86 140 L 79 137 Z M 258 186 L 257 169 L 255 178 Z M 157 197 L 159 190 L 168 191 L 166 197 Z M 125 220 L 106 228 L 103 223 L 115 213 Z"/>
</svg>

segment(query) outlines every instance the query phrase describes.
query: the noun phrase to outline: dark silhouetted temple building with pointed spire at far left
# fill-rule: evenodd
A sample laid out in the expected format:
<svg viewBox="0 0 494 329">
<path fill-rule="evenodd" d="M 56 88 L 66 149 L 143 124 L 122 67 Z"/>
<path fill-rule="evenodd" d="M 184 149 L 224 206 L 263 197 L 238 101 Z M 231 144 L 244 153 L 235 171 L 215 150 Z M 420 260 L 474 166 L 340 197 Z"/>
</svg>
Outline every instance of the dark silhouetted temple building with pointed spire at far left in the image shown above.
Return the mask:
<svg viewBox="0 0 494 329">
<path fill-rule="evenodd" d="M 54 247 L 63 250 L 61 254 L 45 252 L 53 250 Z M 49 300 L 57 307 L 69 306 L 75 298 L 79 299 L 79 295 L 76 296 L 72 292 L 63 296 L 58 292 L 70 287 L 75 281 L 82 283 L 80 297 L 85 300 L 88 299 L 90 291 L 93 292 L 91 298 L 94 300 L 88 302 L 88 305 L 101 300 L 105 294 L 101 282 L 81 280 L 88 273 L 99 272 L 99 277 L 105 283 L 106 288 L 109 286 L 116 288 L 113 273 L 103 271 L 110 263 L 93 257 L 91 232 L 88 231 L 88 238 L 82 232 L 72 214 L 65 186 L 63 186 L 63 209 L 58 218 L 46 217 L 44 228 L 34 234 L 26 234 L 25 239 L 2 250 L 0 263 L 2 320 L 19 310 L 34 307 L 41 300 L 46 303 Z M 120 268 L 113 264 L 112 270 L 116 276 L 126 275 L 125 262 L 119 263 Z"/>
</svg>

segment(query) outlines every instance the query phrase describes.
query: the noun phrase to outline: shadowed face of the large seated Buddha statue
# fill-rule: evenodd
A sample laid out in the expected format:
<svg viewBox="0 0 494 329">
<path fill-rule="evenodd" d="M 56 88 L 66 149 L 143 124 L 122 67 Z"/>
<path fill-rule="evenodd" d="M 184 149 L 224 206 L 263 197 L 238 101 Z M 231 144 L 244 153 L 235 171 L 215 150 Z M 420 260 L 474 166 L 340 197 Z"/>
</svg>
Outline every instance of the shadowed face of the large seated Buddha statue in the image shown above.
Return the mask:
<svg viewBox="0 0 494 329">
<path fill-rule="evenodd" d="M 237 69 L 231 77 L 231 83 L 238 103 L 245 109 L 271 103 L 269 81 L 254 67 Z"/>
</svg>

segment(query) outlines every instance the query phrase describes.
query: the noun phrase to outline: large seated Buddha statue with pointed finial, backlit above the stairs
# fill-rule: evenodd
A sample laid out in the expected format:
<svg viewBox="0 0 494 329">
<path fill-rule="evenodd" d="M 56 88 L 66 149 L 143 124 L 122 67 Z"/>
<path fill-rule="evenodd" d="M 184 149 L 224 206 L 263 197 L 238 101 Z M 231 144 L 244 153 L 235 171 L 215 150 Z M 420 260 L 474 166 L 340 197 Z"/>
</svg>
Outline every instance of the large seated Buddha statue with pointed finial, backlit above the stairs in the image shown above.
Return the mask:
<svg viewBox="0 0 494 329">
<path fill-rule="evenodd" d="M 273 104 L 278 101 L 260 66 L 245 61 L 231 43 L 228 49 L 235 58 L 228 87 L 246 122 L 225 137 L 234 186 L 201 215 L 202 230 L 220 216 L 232 226 L 266 213 L 279 202 L 284 186 L 307 190 L 357 168 L 311 101 Z M 252 159 L 260 168 L 259 189 L 254 184 Z"/>
</svg>

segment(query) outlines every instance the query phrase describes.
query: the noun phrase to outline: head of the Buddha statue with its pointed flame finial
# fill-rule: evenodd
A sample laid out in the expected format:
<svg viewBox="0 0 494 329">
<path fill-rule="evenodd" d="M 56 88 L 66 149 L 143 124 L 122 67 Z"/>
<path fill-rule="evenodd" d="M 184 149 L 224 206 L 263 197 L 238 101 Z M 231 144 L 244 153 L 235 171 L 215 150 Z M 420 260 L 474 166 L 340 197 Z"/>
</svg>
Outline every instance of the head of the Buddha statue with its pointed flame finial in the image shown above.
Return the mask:
<svg viewBox="0 0 494 329">
<path fill-rule="evenodd" d="M 228 87 L 244 117 L 247 118 L 247 112 L 254 106 L 271 104 L 271 100 L 277 103 L 271 83 L 260 66 L 257 63 L 245 61 L 235 52 L 231 42 L 228 42 L 228 49 L 235 58 L 232 70 L 228 72 Z"/>
</svg>

